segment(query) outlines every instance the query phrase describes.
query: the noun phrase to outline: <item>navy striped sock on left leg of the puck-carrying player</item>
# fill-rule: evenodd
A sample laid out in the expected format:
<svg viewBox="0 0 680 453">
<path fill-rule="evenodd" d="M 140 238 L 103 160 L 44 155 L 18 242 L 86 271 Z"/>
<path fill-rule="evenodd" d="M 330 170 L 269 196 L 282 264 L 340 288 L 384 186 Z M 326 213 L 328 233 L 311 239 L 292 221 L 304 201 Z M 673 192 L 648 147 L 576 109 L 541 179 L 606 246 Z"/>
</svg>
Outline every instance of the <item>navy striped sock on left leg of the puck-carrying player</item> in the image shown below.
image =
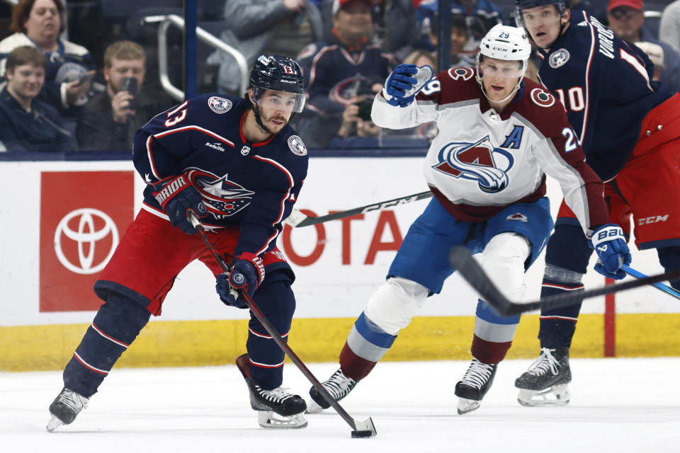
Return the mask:
<svg viewBox="0 0 680 453">
<path fill-rule="evenodd" d="M 146 307 L 111 292 L 64 368 L 64 386 L 90 398 L 151 314 Z"/>
</svg>

